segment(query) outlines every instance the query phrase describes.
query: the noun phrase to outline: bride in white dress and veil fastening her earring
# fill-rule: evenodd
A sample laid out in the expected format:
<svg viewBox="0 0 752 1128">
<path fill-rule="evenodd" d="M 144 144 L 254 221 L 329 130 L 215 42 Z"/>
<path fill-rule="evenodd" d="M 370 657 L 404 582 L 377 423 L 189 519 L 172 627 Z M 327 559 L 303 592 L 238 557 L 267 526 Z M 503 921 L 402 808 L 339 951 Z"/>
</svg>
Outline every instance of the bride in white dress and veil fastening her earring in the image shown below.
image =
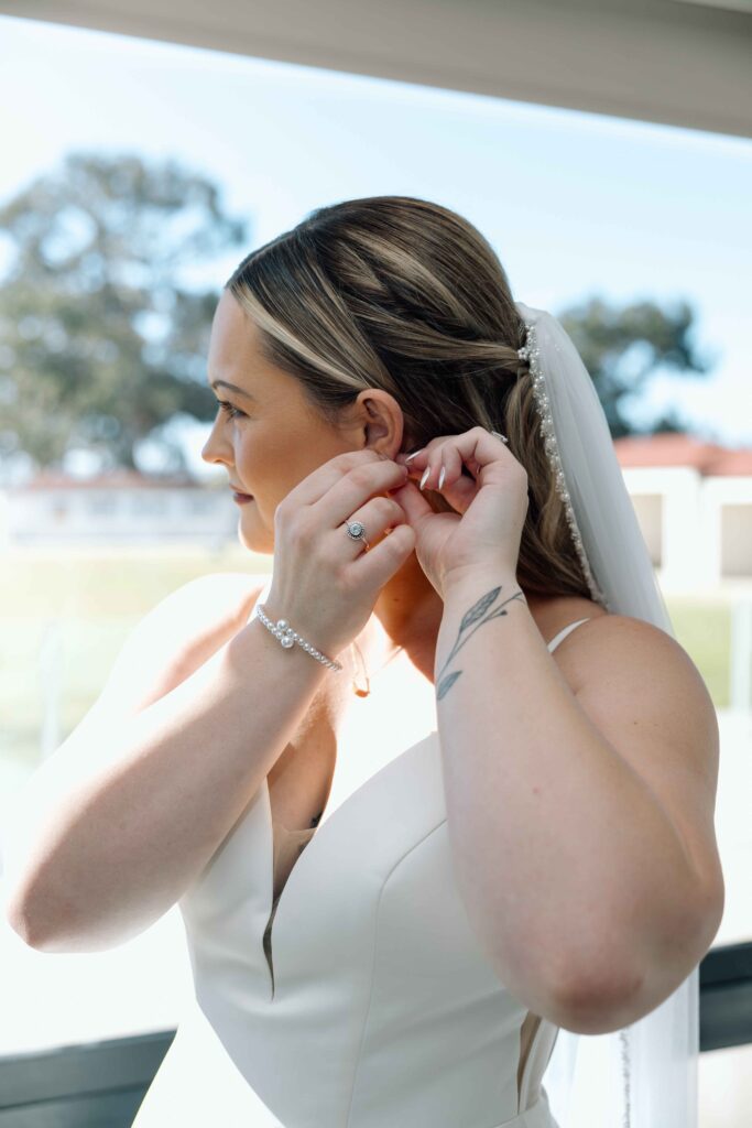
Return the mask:
<svg viewBox="0 0 752 1128">
<path fill-rule="evenodd" d="M 224 288 L 203 457 L 272 573 L 225 578 L 224 634 L 184 644 L 73 820 L 94 851 L 139 811 L 80 937 L 186 925 L 197 1011 L 138 1128 L 168 1077 L 225 1126 L 567 1128 L 557 1034 L 689 997 L 723 910 L 715 713 L 654 625 L 602 412 L 600 447 L 591 403 L 557 448 L 545 369 L 574 346 L 537 314 L 470 223 L 398 196 L 319 209 Z"/>
</svg>

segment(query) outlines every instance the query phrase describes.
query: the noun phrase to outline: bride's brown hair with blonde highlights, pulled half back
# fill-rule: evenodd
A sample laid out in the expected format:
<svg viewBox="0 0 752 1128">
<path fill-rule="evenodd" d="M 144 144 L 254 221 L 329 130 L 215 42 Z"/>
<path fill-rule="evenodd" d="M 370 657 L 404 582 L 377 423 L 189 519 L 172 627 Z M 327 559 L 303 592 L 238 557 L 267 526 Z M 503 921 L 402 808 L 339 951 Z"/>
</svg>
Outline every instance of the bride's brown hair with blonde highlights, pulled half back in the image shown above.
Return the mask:
<svg viewBox="0 0 752 1128">
<path fill-rule="evenodd" d="M 382 388 L 402 411 L 405 451 L 477 425 L 505 434 L 529 485 L 517 582 L 591 598 L 517 356 L 524 320 L 468 220 L 413 196 L 345 200 L 251 252 L 224 289 L 256 325 L 265 359 L 300 381 L 328 423 L 364 388 Z"/>
</svg>

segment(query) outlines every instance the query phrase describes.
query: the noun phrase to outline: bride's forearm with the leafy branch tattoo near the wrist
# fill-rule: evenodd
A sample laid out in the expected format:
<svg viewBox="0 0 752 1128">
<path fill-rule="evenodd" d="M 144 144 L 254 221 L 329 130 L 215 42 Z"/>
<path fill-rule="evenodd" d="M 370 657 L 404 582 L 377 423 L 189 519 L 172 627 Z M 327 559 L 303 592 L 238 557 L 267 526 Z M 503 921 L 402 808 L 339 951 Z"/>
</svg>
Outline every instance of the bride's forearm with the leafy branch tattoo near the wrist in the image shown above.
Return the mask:
<svg viewBox="0 0 752 1128">
<path fill-rule="evenodd" d="M 691 869 L 653 792 L 578 706 L 514 576 L 466 574 L 445 593 L 435 681 L 461 892 L 505 982 L 541 1005 L 567 980 L 637 990 L 680 944 Z"/>
</svg>

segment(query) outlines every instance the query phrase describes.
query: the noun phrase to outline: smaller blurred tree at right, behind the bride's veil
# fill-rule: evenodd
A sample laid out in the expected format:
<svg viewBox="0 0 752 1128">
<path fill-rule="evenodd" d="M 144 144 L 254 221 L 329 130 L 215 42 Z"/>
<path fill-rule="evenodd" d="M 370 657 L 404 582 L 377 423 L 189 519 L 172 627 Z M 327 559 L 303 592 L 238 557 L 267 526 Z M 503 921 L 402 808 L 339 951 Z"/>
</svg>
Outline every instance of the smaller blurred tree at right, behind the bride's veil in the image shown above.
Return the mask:
<svg viewBox="0 0 752 1128">
<path fill-rule="evenodd" d="M 649 301 L 618 308 L 592 298 L 556 316 L 593 378 L 612 439 L 688 429 L 676 408 L 640 431 L 628 417 L 629 402 L 644 394 L 658 368 L 698 377 L 710 370 L 690 341 L 695 315 L 687 301 L 672 312 Z"/>
</svg>

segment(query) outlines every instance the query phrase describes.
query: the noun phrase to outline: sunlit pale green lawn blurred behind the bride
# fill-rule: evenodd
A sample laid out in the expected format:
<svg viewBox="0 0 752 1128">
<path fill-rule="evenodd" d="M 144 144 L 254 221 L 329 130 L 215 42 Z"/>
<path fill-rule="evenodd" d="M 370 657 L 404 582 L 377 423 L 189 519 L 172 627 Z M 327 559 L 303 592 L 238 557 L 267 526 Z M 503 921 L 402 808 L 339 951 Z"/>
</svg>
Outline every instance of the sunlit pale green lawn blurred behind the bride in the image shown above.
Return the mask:
<svg viewBox="0 0 752 1128">
<path fill-rule="evenodd" d="M 38 763 L 41 717 L 59 680 L 62 741 L 99 695 L 125 637 L 156 603 L 209 572 L 268 572 L 271 556 L 230 545 L 121 554 L 35 552 L 0 557 L 0 759 Z M 679 643 L 716 708 L 728 705 L 731 609 L 667 599 Z"/>
</svg>

